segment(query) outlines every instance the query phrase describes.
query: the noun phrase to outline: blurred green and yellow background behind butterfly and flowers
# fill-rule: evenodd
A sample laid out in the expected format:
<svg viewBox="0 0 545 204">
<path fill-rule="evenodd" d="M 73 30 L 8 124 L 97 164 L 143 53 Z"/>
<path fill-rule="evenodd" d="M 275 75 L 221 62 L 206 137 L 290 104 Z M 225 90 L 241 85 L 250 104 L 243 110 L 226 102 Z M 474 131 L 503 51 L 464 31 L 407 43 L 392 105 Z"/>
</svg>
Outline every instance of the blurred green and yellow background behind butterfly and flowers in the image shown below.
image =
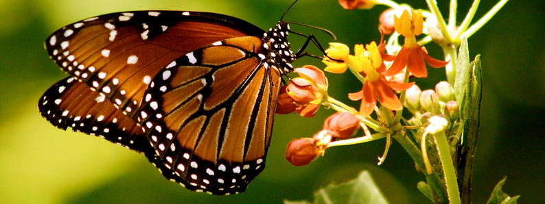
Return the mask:
<svg viewBox="0 0 545 204">
<path fill-rule="evenodd" d="M 415 171 L 412 160 L 396 142 L 382 166 L 376 163 L 384 151 L 384 140 L 329 149 L 325 157 L 308 166 L 288 164 L 284 159 L 286 144 L 293 138 L 312 136 L 333 110 L 322 109 L 314 118 L 277 116 L 267 168 L 246 192 L 233 196 L 189 192 L 163 179 L 143 156 L 100 138 L 56 129 L 36 110 L 40 95 L 65 77 L 43 50 L 43 40 L 64 25 L 126 10 L 195 10 L 236 16 L 268 29 L 292 0 L 0 3 L 0 203 L 281 203 L 283 199 L 312 199 L 314 190 L 356 177 L 364 168 L 371 171 L 391 203 L 427 201 L 416 188 L 424 176 Z M 426 8 L 424 0 L 408 3 Z M 459 3 L 459 16 L 465 15 L 469 3 Z M 494 3 L 482 1 L 476 19 Z M 440 7 L 446 11 L 448 1 L 441 1 Z M 376 6 L 373 10 L 347 11 L 335 0 L 301 0 L 285 19 L 330 29 L 345 44 L 369 43 L 380 39 L 377 19 L 384 9 Z M 471 58 L 483 54 L 475 203 L 485 203 L 492 188 L 505 176 L 505 192 L 522 195 L 521 203 L 545 200 L 544 10 L 544 1 L 510 1 L 469 38 Z M 316 29 L 295 25 L 292 29 L 314 33 L 324 45 L 332 41 Z M 304 39 L 291 36 L 290 40 L 293 47 L 299 47 Z M 429 44 L 427 48 L 431 55 L 441 58 L 438 47 Z M 320 55 L 316 49 L 310 52 Z M 312 58 L 294 63 L 304 64 L 324 67 Z M 348 74 L 327 76 L 329 94 L 342 101 L 347 101 L 347 92 L 361 87 Z M 430 77 L 418 83 L 424 90 L 443 79 L 443 68 L 430 69 Z"/>
</svg>

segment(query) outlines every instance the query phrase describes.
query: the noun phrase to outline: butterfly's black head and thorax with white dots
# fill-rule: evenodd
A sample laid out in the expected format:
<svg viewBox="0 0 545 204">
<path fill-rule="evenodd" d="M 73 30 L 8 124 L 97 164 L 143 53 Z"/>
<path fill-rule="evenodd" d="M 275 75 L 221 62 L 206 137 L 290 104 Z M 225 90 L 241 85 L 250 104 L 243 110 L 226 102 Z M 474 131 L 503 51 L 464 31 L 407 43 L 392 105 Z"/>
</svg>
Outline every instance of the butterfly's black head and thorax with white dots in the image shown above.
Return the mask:
<svg viewBox="0 0 545 204">
<path fill-rule="evenodd" d="M 288 42 L 289 31 L 288 23 L 280 21 L 263 35 L 263 48 L 266 50 L 268 59 L 265 66 L 277 68 L 281 73 L 293 71 L 291 62 L 296 58 Z"/>
</svg>

